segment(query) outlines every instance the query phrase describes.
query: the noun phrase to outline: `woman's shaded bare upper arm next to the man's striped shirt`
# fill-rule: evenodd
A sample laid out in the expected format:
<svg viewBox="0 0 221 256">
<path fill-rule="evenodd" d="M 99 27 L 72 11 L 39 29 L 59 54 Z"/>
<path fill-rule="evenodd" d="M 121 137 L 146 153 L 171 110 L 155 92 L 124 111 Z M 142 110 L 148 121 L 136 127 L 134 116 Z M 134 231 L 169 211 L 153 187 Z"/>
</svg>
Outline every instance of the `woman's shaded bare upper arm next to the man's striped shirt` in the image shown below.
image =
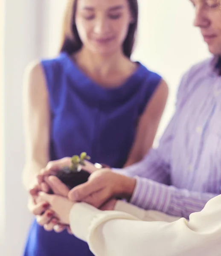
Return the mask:
<svg viewBox="0 0 221 256">
<path fill-rule="evenodd" d="M 125 167 L 140 161 L 151 148 L 166 105 L 167 97 L 168 86 L 162 80 L 140 117 L 134 145 L 125 163 Z"/>
</svg>

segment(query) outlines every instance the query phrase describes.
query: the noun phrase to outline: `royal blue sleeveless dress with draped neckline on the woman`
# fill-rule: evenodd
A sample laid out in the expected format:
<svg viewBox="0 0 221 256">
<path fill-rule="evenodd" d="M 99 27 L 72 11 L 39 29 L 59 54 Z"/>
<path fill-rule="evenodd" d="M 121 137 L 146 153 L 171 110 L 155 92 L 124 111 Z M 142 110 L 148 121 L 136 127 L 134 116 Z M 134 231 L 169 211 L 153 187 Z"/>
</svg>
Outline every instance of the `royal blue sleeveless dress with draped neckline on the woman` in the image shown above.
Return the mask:
<svg viewBox="0 0 221 256">
<path fill-rule="evenodd" d="M 121 168 L 136 135 L 137 122 L 161 77 L 137 63 L 117 88 L 103 88 L 61 53 L 41 61 L 51 109 L 51 160 L 86 151 L 93 163 Z M 33 222 L 24 256 L 93 256 L 87 243 L 64 231 L 47 232 Z"/>
</svg>

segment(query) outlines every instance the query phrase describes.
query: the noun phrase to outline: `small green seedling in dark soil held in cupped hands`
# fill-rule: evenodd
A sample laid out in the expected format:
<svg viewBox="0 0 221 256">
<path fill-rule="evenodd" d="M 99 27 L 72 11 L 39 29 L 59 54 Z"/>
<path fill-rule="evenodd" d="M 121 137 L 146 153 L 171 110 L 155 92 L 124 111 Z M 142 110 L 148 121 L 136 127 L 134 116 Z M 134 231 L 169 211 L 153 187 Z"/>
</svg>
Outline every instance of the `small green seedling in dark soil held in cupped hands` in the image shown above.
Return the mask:
<svg viewBox="0 0 221 256">
<path fill-rule="evenodd" d="M 75 186 L 87 182 L 90 173 L 84 170 L 84 160 L 90 160 L 86 152 L 82 152 L 80 156 L 74 155 L 71 158 L 71 166 L 65 166 L 57 172 L 56 176 L 66 184 L 69 189 L 73 189 Z"/>
</svg>

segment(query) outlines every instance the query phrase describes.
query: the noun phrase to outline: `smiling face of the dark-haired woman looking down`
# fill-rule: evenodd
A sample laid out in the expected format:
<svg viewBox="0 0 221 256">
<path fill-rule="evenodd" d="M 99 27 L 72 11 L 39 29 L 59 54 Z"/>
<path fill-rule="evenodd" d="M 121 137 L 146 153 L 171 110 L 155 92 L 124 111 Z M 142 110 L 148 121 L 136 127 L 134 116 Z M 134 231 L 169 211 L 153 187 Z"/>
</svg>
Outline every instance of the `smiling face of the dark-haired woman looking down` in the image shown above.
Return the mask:
<svg viewBox="0 0 221 256">
<path fill-rule="evenodd" d="M 131 17 L 128 0 L 78 0 L 76 28 L 84 47 L 102 55 L 122 50 Z"/>
</svg>

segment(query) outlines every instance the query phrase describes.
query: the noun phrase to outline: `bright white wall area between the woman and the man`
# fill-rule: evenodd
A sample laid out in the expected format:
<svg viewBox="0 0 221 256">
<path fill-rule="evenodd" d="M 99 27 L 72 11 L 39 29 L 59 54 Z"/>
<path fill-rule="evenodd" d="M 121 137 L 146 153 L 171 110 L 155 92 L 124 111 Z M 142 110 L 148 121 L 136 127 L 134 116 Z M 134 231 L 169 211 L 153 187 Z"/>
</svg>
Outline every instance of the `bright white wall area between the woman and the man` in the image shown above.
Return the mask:
<svg viewBox="0 0 221 256">
<path fill-rule="evenodd" d="M 209 53 L 199 30 L 192 25 L 194 8 L 189 0 L 139 0 L 139 8 L 138 41 L 133 58 L 160 73 L 169 84 L 158 140 L 174 112 L 181 76 Z"/>
</svg>

